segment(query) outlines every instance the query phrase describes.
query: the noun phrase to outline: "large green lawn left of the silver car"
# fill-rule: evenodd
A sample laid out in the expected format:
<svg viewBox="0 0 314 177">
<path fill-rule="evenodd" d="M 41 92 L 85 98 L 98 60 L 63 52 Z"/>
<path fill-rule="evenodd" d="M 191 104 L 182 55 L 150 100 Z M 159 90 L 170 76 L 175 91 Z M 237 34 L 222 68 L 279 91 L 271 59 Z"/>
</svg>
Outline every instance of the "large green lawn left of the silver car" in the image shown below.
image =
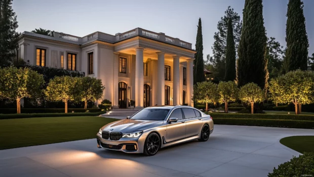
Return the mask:
<svg viewBox="0 0 314 177">
<path fill-rule="evenodd" d="M 0 120 L 0 150 L 94 138 L 113 121 L 95 116 Z"/>
</svg>

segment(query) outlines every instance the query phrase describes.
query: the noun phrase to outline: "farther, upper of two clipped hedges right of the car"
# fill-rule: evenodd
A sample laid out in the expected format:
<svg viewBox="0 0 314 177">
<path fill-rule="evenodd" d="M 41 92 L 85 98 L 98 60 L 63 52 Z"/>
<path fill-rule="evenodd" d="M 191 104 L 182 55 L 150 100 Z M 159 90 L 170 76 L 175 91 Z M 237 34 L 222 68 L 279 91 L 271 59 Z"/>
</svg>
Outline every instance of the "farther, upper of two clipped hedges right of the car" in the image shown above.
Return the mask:
<svg viewBox="0 0 314 177">
<path fill-rule="evenodd" d="M 314 121 L 314 115 L 289 115 L 289 114 L 239 114 L 239 113 L 208 113 L 213 118 L 228 119 L 280 119 Z"/>
</svg>

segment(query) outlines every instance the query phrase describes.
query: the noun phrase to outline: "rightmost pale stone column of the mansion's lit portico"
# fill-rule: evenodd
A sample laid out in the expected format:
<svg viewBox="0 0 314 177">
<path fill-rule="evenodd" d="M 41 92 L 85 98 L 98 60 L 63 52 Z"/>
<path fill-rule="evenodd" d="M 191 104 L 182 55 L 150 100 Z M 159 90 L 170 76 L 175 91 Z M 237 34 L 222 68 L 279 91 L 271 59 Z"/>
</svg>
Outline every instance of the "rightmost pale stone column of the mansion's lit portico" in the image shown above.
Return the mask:
<svg viewBox="0 0 314 177">
<path fill-rule="evenodd" d="M 194 58 L 187 59 L 186 61 L 186 103 L 193 107 L 193 60 Z"/>
</svg>

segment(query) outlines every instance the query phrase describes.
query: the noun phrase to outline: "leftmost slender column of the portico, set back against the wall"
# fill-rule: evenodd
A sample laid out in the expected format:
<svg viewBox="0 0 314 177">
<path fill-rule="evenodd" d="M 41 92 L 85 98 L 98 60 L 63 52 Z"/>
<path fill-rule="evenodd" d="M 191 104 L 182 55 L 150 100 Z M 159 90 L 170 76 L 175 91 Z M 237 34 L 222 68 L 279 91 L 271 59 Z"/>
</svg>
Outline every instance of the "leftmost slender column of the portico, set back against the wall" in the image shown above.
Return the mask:
<svg viewBox="0 0 314 177">
<path fill-rule="evenodd" d="M 118 92 L 119 92 L 119 53 L 113 52 L 113 100 L 112 108 L 119 109 L 118 105 Z"/>
</svg>

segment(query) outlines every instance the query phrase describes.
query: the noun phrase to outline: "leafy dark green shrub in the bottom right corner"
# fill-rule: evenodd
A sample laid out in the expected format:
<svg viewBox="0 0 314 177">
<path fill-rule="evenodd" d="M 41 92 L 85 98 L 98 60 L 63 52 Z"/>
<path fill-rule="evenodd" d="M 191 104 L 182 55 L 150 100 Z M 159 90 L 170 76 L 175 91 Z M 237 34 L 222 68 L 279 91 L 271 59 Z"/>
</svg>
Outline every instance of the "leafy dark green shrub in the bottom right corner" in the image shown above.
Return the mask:
<svg viewBox="0 0 314 177">
<path fill-rule="evenodd" d="M 268 177 L 274 176 L 314 176 L 314 153 L 304 153 L 273 168 Z"/>
</svg>

